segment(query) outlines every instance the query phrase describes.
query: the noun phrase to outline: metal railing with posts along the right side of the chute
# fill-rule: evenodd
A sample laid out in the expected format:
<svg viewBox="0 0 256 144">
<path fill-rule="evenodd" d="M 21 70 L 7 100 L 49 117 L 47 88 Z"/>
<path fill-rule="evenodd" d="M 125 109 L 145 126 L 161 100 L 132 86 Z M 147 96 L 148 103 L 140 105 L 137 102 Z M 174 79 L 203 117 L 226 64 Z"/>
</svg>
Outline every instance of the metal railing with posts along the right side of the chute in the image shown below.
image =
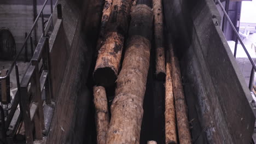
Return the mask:
<svg viewBox="0 0 256 144">
<path fill-rule="evenodd" d="M 240 35 L 239 35 L 239 33 L 237 32 L 237 29 L 235 28 L 235 26 L 233 25 L 232 21 L 230 20 L 229 15 L 226 13 L 226 10 L 225 10 L 225 8 L 223 7 L 222 3 L 220 2 L 220 0 L 217 0 L 217 2 L 219 3 L 219 6 L 220 6 L 220 8 L 221 8 L 222 11 L 223 11 L 226 20 L 228 20 L 230 26 L 232 27 L 233 31 L 234 31 L 235 34 L 236 34 L 236 38 L 239 40 L 240 44 L 241 44 L 242 47 L 243 47 L 243 50 L 245 50 L 245 53 L 246 53 L 246 55 L 247 55 L 249 61 L 250 61 L 251 64 L 252 64 L 252 71 L 251 71 L 250 80 L 249 80 L 249 89 L 250 89 L 250 91 L 252 91 L 253 81 L 254 81 L 254 71 L 256 70 L 256 65 L 255 65 L 255 63 L 253 62 L 253 59 L 252 59 L 252 57 L 250 56 L 249 52 L 247 51 L 245 44 L 243 44 L 243 41 L 242 41 L 242 39 L 240 38 Z M 235 45 L 235 50 L 234 50 L 234 57 L 236 57 L 236 51 L 237 51 L 237 40 L 236 40 L 236 45 Z"/>
</svg>

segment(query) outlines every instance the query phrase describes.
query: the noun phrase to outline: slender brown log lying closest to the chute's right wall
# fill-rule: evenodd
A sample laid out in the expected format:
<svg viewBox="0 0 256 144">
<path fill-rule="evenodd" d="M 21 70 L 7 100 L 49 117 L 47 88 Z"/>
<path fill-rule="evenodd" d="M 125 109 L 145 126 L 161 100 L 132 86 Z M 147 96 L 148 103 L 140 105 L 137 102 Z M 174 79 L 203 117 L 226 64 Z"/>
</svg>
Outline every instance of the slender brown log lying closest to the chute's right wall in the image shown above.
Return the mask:
<svg viewBox="0 0 256 144">
<path fill-rule="evenodd" d="M 188 110 L 182 86 L 181 70 L 178 57 L 175 55 L 172 44 L 168 44 L 171 55 L 171 69 L 173 77 L 174 104 L 177 117 L 177 128 L 180 143 L 192 143 L 188 121 Z"/>
</svg>

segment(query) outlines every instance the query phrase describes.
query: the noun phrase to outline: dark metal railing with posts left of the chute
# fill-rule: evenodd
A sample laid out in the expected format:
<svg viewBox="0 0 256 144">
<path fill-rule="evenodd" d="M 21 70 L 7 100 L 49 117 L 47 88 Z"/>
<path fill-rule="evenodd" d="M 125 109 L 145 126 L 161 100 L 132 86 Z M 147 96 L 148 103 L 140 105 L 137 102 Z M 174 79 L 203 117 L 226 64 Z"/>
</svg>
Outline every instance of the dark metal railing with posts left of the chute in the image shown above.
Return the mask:
<svg viewBox="0 0 256 144">
<path fill-rule="evenodd" d="M 21 121 L 21 117 L 24 121 L 25 126 L 25 135 L 27 143 L 33 143 L 32 131 L 33 128 L 31 125 L 34 123 L 36 129 L 36 134 L 34 137 L 36 139 L 42 139 L 42 130 L 44 130 L 44 118 L 43 118 L 43 102 L 42 94 L 45 92 L 46 104 L 51 104 L 51 74 L 50 74 L 50 51 L 49 51 L 49 38 L 46 35 L 48 33 L 50 26 L 53 27 L 53 0 L 50 0 L 51 14 L 48 19 L 48 22 L 45 25 L 43 10 L 45 9 L 46 4 L 49 0 L 45 0 L 42 9 L 39 11 L 30 32 L 26 35 L 26 39 L 22 44 L 22 47 L 19 53 L 15 56 L 14 61 L 11 63 L 11 66 L 8 69 L 8 72 L 5 76 L 0 76 L 0 82 L 7 80 L 10 77 L 11 72 L 15 67 L 15 76 L 17 82 L 18 91 L 15 94 L 13 101 L 11 102 L 10 109 L 8 108 L 8 115 L 5 121 L 4 129 L 7 131 L 10 127 L 10 123 L 14 117 L 15 111 L 20 105 L 20 114 L 17 118 L 16 124 L 14 125 L 13 132 L 8 135 L 8 137 L 14 137 Z M 36 31 L 37 22 L 39 18 L 42 18 L 42 37 L 37 44 L 36 49 L 33 52 L 33 42 L 31 34 L 33 31 Z M 18 59 L 21 56 L 22 51 L 26 48 L 27 42 L 30 40 L 31 44 L 31 61 L 26 69 L 21 83 L 19 78 L 19 68 L 18 68 Z M 40 62 L 42 61 L 42 65 Z"/>
</svg>

